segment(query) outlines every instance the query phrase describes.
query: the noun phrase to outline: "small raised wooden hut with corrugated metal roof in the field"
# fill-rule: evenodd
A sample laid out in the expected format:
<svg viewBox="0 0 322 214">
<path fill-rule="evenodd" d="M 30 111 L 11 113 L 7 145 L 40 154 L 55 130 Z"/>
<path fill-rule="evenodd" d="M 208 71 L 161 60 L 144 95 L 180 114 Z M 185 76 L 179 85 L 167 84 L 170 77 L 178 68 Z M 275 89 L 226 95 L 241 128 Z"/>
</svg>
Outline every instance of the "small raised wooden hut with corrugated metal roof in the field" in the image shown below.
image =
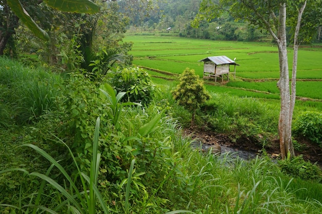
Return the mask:
<svg viewBox="0 0 322 214">
<path fill-rule="evenodd" d="M 198 62 L 204 62 L 204 78 L 214 78 L 217 82 L 217 77 L 222 77 L 223 82 L 224 76 L 227 76 L 227 81 L 229 81 L 230 65 L 234 65 L 234 78 L 236 76 L 236 65 L 238 64 L 227 56 L 208 56 Z"/>
</svg>

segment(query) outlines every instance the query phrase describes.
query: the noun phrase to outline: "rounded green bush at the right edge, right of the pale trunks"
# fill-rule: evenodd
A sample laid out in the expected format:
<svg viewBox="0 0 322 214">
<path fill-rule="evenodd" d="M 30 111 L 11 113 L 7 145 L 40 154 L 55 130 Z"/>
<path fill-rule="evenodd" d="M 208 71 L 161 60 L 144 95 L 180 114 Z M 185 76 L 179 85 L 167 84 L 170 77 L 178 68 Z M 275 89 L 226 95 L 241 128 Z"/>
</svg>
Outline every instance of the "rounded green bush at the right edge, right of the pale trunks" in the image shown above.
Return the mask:
<svg viewBox="0 0 322 214">
<path fill-rule="evenodd" d="M 293 125 L 293 133 L 322 146 L 322 113 L 305 111 L 299 114 Z"/>
</svg>

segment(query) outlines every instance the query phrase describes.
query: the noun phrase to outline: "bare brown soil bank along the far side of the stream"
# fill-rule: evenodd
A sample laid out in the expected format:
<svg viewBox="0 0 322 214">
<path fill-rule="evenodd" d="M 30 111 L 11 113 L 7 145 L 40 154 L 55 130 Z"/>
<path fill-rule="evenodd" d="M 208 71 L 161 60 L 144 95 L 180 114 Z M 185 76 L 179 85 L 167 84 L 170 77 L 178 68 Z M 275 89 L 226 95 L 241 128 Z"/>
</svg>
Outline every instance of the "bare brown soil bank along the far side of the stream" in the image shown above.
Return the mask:
<svg viewBox="0 0 322 214">
<path fill-rule="evenodd" d="M 239 139 L 237 142 L 232 142 L 227 134 L 215 133 L 215 132 L 204 132 L 197 129 L 185 129 L 184 134 L 189 136 L 191 139 L 196 139 L 203 144 L 214 145 L 219 144 L 221 146 L 232 147 L 235 149 L 246 150 L 260 154 L 263 149 L 261 145 L 252 142 L 250 139 Z M 298 141 L 302 146 L 301 151 L 295 151 L 296 155 L 303 155 L 303 159 L 310 160 L 311 162 L 317 162 L 322 166 L 322 148 L 313 145 L 305 140 Z M 273 139 L 271 143 L 264 147 L 267 154 L 271 158 L 280 158 L 279 140 Z"/>
</svg>

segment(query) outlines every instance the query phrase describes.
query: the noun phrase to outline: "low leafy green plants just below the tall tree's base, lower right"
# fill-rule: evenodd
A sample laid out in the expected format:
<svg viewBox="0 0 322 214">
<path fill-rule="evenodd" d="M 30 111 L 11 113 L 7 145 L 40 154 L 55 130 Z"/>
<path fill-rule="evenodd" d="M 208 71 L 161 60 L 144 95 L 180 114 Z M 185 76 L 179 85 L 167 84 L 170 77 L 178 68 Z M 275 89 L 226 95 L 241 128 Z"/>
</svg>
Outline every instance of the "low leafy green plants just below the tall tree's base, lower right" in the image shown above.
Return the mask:
<svg viewBox="0 0 322 214">
<path fill-rule="evenodd" d="M 278 163 L 281 171 L 285 174 L 303 180 L 321 182 L 322 171 L 319 166 L 316 163 L 312 164 L 309 161 L 303 160 L 301 155 L 281 160 Z"/>
</svg>

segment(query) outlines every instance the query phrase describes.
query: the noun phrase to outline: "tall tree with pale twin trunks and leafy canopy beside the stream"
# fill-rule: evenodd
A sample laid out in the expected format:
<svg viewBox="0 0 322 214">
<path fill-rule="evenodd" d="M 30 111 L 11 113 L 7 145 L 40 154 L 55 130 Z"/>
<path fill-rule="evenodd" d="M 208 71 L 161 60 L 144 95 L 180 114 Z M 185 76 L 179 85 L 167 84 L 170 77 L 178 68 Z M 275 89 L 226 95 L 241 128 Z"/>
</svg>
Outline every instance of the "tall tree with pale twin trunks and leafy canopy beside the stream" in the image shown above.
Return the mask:
<svg viewBox="0 0 322 214">
<path fill-rule="evenodd" d="M 285 158 L 288 153 L 291 156 L 295 155 L 291 126 L 296 96 L 297 50 L 301 19 L 307 4 L 315 6 L 312 8 L 320 8 L 320 3 L 320 0 L 203 0 L 200 12 L 193 23 L 195 27 L 198 27 L 202 19 L 206 18 L 208 21 L 211 21 L 212 18 L 220 16 L 222 12 L 228 11 L 235 19 L 243 19 L 251 24 L 260 26 L 269 31 L 273 36 L 279 52 L 280 79 L 277 82 L 277 87 L 280 91 L 281 108 L 278 130 L 282 158 Z M 287 8 L 290 11 L 289 13 L 287 13 Z M 320 12 L 320 10 L 317 10 L 317 12 Z M 322 14 L 318 14 L 317 16 L 321 17 Z M 294 22 L 287 22 L 287 18 L 288 20 L 293 19 Z M 293 29 L 292 32 L 294 32 L 291 90 L 287 55 L 287 23 L 289 24 L 288 27 L 291 27 Z M 314 26 L 314 22 L 311 22 L 311 24 Z M 309 31 L 308 28 L 306 30 Z M 315 29 L 312 27 L 311 30 Z"/>
</svg>

